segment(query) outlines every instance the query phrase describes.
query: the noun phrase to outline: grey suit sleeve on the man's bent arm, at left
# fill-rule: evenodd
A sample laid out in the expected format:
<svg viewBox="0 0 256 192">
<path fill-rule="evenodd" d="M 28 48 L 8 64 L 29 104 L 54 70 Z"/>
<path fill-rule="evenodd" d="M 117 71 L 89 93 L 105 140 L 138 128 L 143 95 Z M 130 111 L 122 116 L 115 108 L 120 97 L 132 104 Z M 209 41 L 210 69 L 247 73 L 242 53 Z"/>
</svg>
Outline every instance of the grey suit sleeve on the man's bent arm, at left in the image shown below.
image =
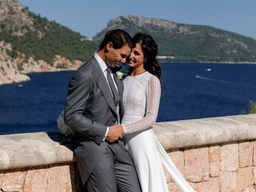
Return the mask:
<svg viewBox="0 0 256 192">
<path fill-rule="evenodd" d="M 100 145 L 107 132 L 107 126 L 92 121 L 83 115 L 92 92 L 92 86 L 92 74 L 81 73 L 80 70 L 75 73 L 68 84 L 64 119 L 73 131 L 84 134 Z"/>
</svg>

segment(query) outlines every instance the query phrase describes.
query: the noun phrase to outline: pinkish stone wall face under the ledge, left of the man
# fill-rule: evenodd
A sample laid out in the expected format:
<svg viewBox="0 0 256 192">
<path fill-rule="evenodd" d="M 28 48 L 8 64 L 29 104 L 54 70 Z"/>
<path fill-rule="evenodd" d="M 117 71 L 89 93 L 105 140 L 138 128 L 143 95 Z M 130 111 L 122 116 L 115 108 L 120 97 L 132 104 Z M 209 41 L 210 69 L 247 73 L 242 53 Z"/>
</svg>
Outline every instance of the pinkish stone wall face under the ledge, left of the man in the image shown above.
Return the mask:
<svg viewBox="0 0 256 192">
<path fill-rule="evenodd" d="M 74 192 L 74 164 L 0 171 L 0 188 L 4 192 Z"/>
</svg>

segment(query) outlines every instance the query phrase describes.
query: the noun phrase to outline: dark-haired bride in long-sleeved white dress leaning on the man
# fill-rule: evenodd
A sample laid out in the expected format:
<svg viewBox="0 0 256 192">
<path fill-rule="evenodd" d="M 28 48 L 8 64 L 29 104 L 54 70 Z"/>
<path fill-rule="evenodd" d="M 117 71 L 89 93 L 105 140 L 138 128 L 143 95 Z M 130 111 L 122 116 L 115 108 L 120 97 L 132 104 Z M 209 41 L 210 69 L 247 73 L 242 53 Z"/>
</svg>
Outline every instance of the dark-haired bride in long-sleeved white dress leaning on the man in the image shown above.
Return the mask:
<svg viewBox="0 0 256 192">
<path fill-rule="evenodd" d="M 152 130 L 161 95 L 157 45 L 151 36 L 142 33 L 137 33 L 133 41 L 136 47 L 129 56 L 131 72 L 124 79 L 125 114 L 122 126 L 124 143 L 134 160 L 142 192 L 168 191 L 161 164 L 181 191 L 193 191 Z"/>
</svg>

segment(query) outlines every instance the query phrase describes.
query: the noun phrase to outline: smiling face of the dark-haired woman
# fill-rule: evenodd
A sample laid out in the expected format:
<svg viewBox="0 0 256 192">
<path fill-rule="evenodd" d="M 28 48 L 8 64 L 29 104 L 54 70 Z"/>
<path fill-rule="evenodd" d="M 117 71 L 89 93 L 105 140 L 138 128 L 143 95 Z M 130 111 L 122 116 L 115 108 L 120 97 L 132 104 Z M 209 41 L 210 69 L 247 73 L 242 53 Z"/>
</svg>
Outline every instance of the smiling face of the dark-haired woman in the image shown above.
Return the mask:
<svg viewBox="0 0 256 192">
<path fill-rule="evenodd" d="M 135 48 L 132 49 L 132 53 L 129 56 L 129 66 L 131 68 L 139 68 L 139 67 L 144 67 L 144 54 L 142 51 L 142 46 L 141 44 L 137 43 Z"/>
</svg>

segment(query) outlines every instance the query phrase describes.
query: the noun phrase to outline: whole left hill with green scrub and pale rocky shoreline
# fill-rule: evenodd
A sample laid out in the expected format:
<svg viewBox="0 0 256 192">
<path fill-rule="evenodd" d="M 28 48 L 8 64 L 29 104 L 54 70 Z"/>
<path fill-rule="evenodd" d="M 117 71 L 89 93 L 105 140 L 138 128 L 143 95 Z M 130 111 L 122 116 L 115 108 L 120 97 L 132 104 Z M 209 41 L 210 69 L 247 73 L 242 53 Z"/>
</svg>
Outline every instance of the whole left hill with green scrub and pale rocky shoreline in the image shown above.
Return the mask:
<svg viewBox="0 0 256 192">
<path fill-rule="evenodd" d="M 97 44 L 17 0 L 0 0 L 0 85 L 28 80 L 21 73 L 76 69 Z"/>
</svg>

